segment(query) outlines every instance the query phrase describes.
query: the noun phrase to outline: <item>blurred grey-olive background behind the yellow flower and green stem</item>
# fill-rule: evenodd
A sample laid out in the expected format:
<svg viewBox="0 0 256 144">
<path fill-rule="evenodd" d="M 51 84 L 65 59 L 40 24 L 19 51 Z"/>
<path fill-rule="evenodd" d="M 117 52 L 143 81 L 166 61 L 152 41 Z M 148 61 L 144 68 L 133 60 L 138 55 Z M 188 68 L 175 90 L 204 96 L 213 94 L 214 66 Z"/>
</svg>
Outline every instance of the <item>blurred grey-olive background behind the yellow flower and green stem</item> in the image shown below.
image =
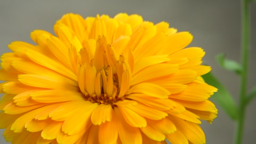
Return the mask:
<svg viewBox="0 0 256 144">
<path fill-rule="evenodd" d="M 221 69 L 215 61 L 215 55 L 225 53 L 227 58 L 239 62 L 241 16 L 239 0 L 129 0 L 129 1 L 5 1 L 0 0 L 0 54 L 9 52 L 7 45 L 12 41 L 33 43 L 29 35 L 34 29 L 43 29 L 53 33 L 53 25 L 65 13 L 78 13 L 84 18 L 96 14 L 108 14 L 113 17 L 119 12 L 140 14 L 147 21 L 158 23 L 167 21 L 170 27 L 179 31 L 190 31 L 194 40 L 190 46 L 203 47 L 206 51 L 204 63 L 212 66 L 212 72 L 227 86 L 237 102 L 239 78 Z M 251 48 L 250 48 L 250 89 L 256 84 L 256 3 L 250 6 Z M 214 97 L 214 96 L 213 96 Z M 255 143 L 256 136 L 256 100 L 247 108 L 244 143 Z M 212 124 L 201 125 L 206 135 L 206 143 L 232 143 L 234 123 L 218 106 L 219 115 Z M 0 130 L 0 135 L 3 130 Z M 5 144 L 3 137 L 0 143 Z"/>
</svg>

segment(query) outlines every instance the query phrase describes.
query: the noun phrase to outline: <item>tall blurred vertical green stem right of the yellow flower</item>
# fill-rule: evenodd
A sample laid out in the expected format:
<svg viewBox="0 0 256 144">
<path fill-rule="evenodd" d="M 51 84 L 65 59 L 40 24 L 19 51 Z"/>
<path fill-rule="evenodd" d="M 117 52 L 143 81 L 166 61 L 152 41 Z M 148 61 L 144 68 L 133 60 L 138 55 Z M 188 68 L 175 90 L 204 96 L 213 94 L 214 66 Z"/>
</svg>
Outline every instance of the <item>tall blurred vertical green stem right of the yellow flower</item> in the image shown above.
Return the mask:
<svg viewBox="0 0 256 144">
<path fill-rule="evenodd" d="M 239 93 L 239 110 L 236 123 L 235 143 L 241 144 L 243 140 L 244 118 L 246 109 L 247 72 L 249 56 L 249 0 L 242 0 L 242 68 L 241 86 Z"/>
</svg>

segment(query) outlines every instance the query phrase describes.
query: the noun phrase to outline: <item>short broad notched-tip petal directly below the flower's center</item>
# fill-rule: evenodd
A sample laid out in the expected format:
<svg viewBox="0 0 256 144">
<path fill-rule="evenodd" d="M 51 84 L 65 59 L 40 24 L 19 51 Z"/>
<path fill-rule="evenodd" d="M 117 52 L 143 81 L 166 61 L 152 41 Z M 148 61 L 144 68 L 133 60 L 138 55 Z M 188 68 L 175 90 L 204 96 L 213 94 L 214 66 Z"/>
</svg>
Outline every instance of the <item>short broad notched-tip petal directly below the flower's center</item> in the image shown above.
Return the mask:
<svg viewBox="0 0 256 144">
<path fill-rule="evenodd" d="M 101 104 L 92 112 L 91 121 L 94 125 L 101 125 L 106 121 L 110 122 L 113 116 L 113 109 L 111 105 Z"/>
</svg>

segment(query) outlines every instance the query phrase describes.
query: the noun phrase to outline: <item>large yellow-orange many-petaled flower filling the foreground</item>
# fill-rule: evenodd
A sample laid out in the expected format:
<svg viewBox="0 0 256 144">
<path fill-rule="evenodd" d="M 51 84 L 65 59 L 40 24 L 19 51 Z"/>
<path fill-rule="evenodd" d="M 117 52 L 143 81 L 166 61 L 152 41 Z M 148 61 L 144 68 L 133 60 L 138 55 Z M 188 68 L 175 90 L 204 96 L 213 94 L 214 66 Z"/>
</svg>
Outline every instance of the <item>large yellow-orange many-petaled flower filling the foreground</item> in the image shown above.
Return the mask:
<svg viewBox="0 0 256 144">
<path fill-rule="evenodd" d="M 217 109 L 204 51 L 166 22 L 119 13 L 66 14 L 56 36 L 12 42 L 2 55 L 0 128 L 12 143 L 205 143 Z"/>
</svg>

